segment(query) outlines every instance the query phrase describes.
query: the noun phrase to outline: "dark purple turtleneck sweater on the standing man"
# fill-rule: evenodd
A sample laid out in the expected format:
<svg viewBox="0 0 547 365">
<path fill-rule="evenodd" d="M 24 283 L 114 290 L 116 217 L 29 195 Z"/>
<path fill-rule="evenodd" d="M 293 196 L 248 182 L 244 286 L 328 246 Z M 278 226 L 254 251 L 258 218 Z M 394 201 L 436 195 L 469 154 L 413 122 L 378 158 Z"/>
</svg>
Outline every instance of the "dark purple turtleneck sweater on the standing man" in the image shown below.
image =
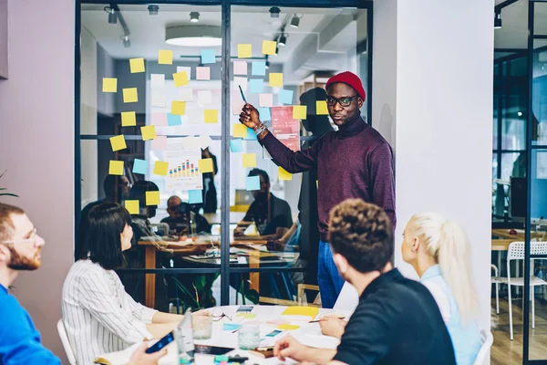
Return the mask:
<svg viewBox="0 0 547 365">
<path fill-rule="evenodd" d="M 269 132 L 260 141 L 287 172 L 317 168 L 319 234 L 327 242 L 328 216 L 336 204 L 361 198 L 382 207 L 395 229 L 393 155 L 386 140 L 358 114 L 307 150 L 294 152 Z"/>
</svg>

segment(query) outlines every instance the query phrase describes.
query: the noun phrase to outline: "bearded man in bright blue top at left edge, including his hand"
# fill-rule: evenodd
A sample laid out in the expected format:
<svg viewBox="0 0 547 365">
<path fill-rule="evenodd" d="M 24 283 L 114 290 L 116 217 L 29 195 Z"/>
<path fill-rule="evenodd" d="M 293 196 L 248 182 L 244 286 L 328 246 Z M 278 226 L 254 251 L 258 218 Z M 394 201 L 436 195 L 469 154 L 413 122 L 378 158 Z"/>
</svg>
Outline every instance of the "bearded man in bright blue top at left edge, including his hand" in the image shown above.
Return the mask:
<svg viewBox="0 0 547 365">
<path fill-rule="evenodd" d="M 58 364 L 61 361 L 40 343 L 40 334 L 25 308 L 8 292 L 20 271 L 40 267 L 44 239 L 37 235 L 34 224 L 25 212 L 0 203 L 0 364 Z M 147 345 L 137 349 L 128 364 L 152 365 L 167 350 L 147 354 Z"/>
</svg>

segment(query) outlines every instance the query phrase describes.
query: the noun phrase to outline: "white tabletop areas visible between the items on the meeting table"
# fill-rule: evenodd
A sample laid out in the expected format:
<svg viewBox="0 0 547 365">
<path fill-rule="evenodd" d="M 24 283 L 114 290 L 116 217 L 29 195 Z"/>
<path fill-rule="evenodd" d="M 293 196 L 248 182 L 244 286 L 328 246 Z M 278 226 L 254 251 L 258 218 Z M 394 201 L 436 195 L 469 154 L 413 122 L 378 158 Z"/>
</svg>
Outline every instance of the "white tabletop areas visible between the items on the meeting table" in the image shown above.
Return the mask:
<svg viewBox="0 0 547 365">
<path fill-rule="evenodd" d="M 222 308 L 222 311 L 224 314 L 232 318 L 232 322 L 241 322 L 243 321 L 243 318 L 237 318 L 236 310 L 239 308 L 239 306 L 226 306 L 226 307 L 220 307 Z M 267 324 L 266 322 L 268 320 L 276 319 L 276 318 L 282 318 L 282 313 L 286 307 L 284 306 L 254 306 L 253 312 L 256 314 L 256 318 L 253 319 L 244 319 L 245 322 L 253 321 L 253 322 L 260 322 L 261 327 L 261 339 L 265 337 L 266 334 L 272 332 L 276 326 L 272 324 Z M 212 310 L 212 309 L 210 309 Z M 216 312 L 220 312 L 218 309 L 216 309 Z M 346 317 L 349 317 L 350 313 L 347 311 L 342 310 L 333 310 L 333 309 L 319 309 L 319 315 L 318 318 L 323 317 L 327 314 L 340 314 L 344 315 Z M 248 357 L 249 360 L 245 362 L 246 365 L 273 365 L 273 364 L 294 364 L 293 360 L 286 360 L 286 361 L 280 361 L 277 358 L 271 358 L 271 359 L 262 359 L 257 356 L 254 356 L 253 354 L 250 354 L 248 351 L 245 351 L 243 349 L 237 348 L 237 340 L 238 340 L 238 333 L 232 333 L 232 330 L 224 330 L 222 329 L 222 323 L 232 323 L 227 318 L 222 318 L 222 320 L 217 322 L 212 322 L 212 338 L 211 339 L 196 339 L 194 342 L 198 345 L 211 345 L 211 346 L 219 346 L 219 347 L 226 347 L 226 348 L 233 348 L 231 352 L 229 352 L 228 356 L 233 356 L 235 354 L 241 355 L 243 357 Z M 263 340 L 261 343 L 261 346 L 268 346 L 270 344 L 274 344 L 275 341 L 278 339 L 282 339 L 284 336 L 291 334 L 295 339 L 300 340 L 302 343 L 308 346 L 315 346 L 325 349 L 335 349 L 335 346 L 339 342 L 337 339 L 323 336 L 321 334 L 321 328 L 319 327 L 318 323 L 307 323 L 306 321 L 302 320 L 290 320 L 291 324 L 298 325 L 300 328 L 294 329 L 294 330 L 287 330 L 283 331 L 279 335 L 275 336 L 274 338 L 268 338 Z M 129 356 L 132 353 L 132 350 L 136 347 L 138 347 L 139 344 L 131 346 L 129 349 L 125 349 L 123 352 L 124 354 L 127 354 L 127 360 L 129 360 Z M 126 360 L 126 361 L 127 361 Z M 211 355 L 202 355 L 202 354 L 196 354 L 194 363 L 197 365 L 208 365 L 214 363 L 214 356 Z M 177 347 L 175 342 L 171 342 L 168 346 L 168 354 L 162 358 L 159 362 L 160 365 L 170 365 L 170 364 L 178 364 L 178 357 L 177 357 Z"/>
</svg>

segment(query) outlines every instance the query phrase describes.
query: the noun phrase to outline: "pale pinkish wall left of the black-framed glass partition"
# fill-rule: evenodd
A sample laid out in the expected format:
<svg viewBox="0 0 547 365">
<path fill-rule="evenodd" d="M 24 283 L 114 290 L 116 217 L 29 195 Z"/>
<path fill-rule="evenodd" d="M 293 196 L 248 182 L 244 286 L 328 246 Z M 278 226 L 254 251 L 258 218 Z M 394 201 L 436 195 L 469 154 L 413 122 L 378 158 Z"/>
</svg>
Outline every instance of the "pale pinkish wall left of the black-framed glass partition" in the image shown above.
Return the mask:
<svg viewBox="0 0 547 365">
<path fill-rule="evenodd" d="M 73 257 L 74 1 L 9 0 L 8 80 L 0 80 L 3 198 L 46 239 L 42 267 L 15 280 L 45 346 L 66 363 L 57 334 L 61 287 Z M 53 11 L 53 13 L 52 13 Z"/>
</svg>

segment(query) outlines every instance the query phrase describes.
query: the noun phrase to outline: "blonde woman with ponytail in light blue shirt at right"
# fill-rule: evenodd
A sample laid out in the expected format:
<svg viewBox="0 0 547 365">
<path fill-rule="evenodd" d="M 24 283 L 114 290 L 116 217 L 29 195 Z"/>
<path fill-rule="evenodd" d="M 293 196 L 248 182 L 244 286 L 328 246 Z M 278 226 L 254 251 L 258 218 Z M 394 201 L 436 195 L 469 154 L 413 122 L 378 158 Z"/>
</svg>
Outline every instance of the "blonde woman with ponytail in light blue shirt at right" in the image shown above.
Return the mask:
<svg viewBox="0 0 547 365">
<path fill-rule="evenodd" d="M 481 346 L 476 322 L 480 309 L 466 234 L 439 214 L 420 213 L 410 218 L 403 237 L 403 260 L 437 301 L 458 365 L 473 364 Z"/>
</svg>

